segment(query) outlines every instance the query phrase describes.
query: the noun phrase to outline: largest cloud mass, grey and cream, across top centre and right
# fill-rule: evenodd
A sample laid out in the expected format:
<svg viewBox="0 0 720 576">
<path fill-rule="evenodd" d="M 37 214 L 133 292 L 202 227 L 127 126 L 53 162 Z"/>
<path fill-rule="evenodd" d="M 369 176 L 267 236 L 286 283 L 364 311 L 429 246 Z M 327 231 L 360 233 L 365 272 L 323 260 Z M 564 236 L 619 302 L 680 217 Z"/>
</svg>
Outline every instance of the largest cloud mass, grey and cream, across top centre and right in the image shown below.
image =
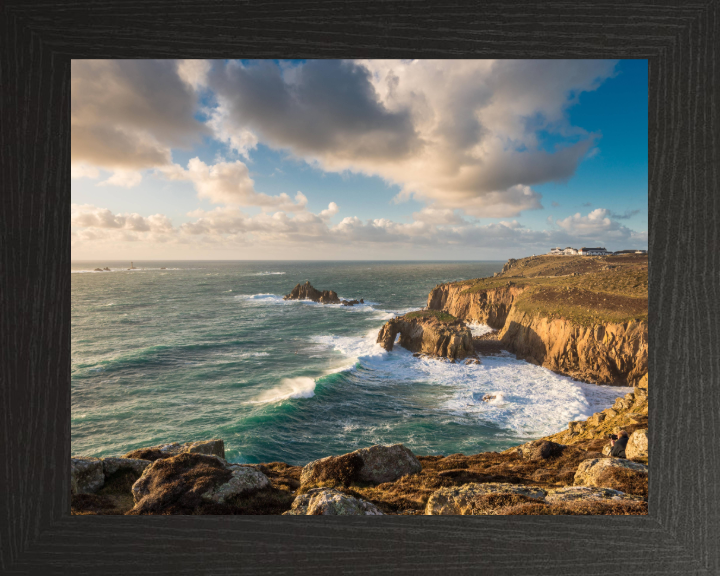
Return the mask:
<svg viewBox="0 0 720 576">
<path fill-rule="evenodd" d="M 598 135 L 566 110 L 612 75 L 600 60 L 215 62 L 215 133 L 253 138 L 324 170 L 378 175 L 478 217 L 542 207 L 532 186 L 570 178 Z M 539 134 L 560 136 L 552 150 Z M 234 144 L 228 134 L 237 134 Z M 251 136 L 252 135 L 252 136 Z"/>
</svg>

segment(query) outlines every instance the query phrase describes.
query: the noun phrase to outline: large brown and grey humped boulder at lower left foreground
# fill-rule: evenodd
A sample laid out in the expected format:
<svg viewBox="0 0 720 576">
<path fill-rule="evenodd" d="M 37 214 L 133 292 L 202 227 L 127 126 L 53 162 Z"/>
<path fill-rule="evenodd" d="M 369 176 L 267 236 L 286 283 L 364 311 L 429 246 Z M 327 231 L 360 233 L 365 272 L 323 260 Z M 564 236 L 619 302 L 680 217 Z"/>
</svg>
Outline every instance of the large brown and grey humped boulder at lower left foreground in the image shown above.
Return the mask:
<svg viewBox="0 0 720 576">
<path fill-rule="evenodd" d="M 128 514 L 223 513 L 218 505 L 267 488 L 262 472 L 228 464 L 217 456 L 184 452 L 160 458 L 133 484 L 135 506 Z"/>
</svg>

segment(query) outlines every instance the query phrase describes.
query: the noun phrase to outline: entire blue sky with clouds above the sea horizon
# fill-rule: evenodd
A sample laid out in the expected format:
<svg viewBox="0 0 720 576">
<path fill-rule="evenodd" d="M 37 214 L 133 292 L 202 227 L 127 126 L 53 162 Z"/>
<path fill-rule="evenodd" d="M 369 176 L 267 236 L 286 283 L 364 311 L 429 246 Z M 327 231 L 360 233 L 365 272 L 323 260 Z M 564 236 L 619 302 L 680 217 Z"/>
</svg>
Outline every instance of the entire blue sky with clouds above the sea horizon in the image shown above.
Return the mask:
<svg viewBox="0 0 720 576">
<path fill-rule="evenodd" d="M 74 60 L 73 260 L 647 249 L 646 60 Z"/>
</svg>

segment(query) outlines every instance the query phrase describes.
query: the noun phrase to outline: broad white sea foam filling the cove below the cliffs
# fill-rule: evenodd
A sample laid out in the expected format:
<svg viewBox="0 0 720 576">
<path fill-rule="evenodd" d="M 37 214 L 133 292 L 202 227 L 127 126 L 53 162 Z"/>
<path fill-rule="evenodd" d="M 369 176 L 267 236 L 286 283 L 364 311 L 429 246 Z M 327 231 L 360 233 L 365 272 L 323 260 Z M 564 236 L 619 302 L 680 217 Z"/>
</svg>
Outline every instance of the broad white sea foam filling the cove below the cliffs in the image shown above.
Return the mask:
<svg viewBox="0 0 720 576">
<path fill-rule="evenodd" d="M 527 438 L 552 434 L 564 429 L 571 420 L 588 418 L 611 406 L 615 398 L 628 390 L 577 382 L 517 360 L 511 354 L 483 357 L 480 365 L 465 365 L 437 358 L 414 358 L 400 346 L 388 353 L 375 343 L 376 336 L 377 331 L 373 330 L 364 338 L 318 336 L 313 340 L 351 358 L 353 363 L 346 365 L 346 370 L 358 363 L 372 370 L 375 382 L 447 386 L 451 396 L 437 410 L 452 417 L 484 421 Z M 495 398 L 483 401 L 486 394 Z"/>
</svg>

